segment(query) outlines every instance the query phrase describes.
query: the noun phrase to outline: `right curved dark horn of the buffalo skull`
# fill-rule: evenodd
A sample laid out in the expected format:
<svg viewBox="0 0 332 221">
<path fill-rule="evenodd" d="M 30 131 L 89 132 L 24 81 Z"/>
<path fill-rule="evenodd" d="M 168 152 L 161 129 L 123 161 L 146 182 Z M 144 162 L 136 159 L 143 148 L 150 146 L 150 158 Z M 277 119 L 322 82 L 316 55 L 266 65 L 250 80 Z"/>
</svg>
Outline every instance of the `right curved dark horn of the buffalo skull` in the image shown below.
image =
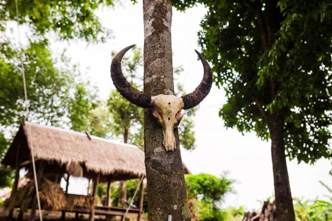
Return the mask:
<svg viewBox="0 0 332 221">
<path fill-rule="evenodd" d="M 206 59 L 201 53 L 195 50 L 198 57 L 201 59 L 204 67 L 204 75 L 201 83 L 198 87 L 191 93 L 182 96 L 182 101 L 184 103 L 183 109 L 189 109 L 197 106 L 210 92 L 212 86 L 212 70 L 210 65 L 207 63 Z"/>
</svg>

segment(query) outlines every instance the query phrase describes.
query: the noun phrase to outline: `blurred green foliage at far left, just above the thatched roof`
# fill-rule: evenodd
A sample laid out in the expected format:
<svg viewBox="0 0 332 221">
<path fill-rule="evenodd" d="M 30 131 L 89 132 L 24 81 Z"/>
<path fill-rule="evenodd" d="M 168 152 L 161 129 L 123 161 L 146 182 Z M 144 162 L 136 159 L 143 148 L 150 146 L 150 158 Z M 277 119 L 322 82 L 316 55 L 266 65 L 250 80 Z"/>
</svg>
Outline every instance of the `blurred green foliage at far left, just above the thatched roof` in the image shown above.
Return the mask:
<svg viewBox="0 0 332 221">
<path fill-rule="evenodd" d="M 21 48 L 15 47 L 5 38 L 1 40 L 4 40 L 0 43 L 3 46 L 0 47 L 0 151 L 2 155 L 8 147 L 4 134 L 10 136 L 15 132 L 20 118 L 26 115 L 26 110 L 23 108 L 26 104 L 19 65 L 18 52 Z M 68 125 L 69 118 L 74 126 L 83 124 L 84 111 L 96 106 L 94 101 L 90 101 L 91 97 L 94 99 L 96 93 L 88 84 L 79 81 L 80 72 L 77 66 L 68 66 L 70 60 L 64 54 L 54 59 L 46 40 L 31 40 L 27 47 L 22 48 L 22 52 L 29 100 L 29 121 L 61 127 Z M 77 114 L 79 118 L 74 114 Z"/>
</svg>

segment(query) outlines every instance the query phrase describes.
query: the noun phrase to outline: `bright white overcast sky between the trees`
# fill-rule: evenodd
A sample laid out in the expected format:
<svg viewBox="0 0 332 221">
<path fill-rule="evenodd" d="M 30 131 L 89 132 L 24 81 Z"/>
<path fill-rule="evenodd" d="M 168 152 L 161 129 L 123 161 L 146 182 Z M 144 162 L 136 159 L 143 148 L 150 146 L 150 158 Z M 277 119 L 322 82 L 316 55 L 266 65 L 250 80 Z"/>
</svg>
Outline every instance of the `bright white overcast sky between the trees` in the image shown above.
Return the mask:
<svg viewBox="0 0 332 221">
<path fill-rule="evenodd" d="M 73 62 L 80 63 L 84 71 L 88 68 L 88 75 L 97 84 L 103 99 L 114 88 L 109 72 L 111 51 L 120 51 L 130 44 L 143 48 L 143 6 L 141 1 L 138 2 L 133 6 L 126 1 L 124 7 L 104 8 L 98 13 L 104 26 L 113 30 L 115 37 L 105 44 L 87 45 L 81 41 L 53 44 L 53 51 L 60 53 L 67 48 Z M 179 81 L 184 82 L 187 92 L 196 88 L 203 74 L 194 49 L 200 51 L 197 31 L 204 13 L 203 7 L 188 9 L 185 13 L 173 9 L 173 65 L 183 66 Z M 257 200 L 263 201 L 274 192 L 270 143 L 259 140 L 255 134 L 242 136 L 236 130 L 226 130 L 218 116 L 224 103 L 223 90 L 212 86 L 195 119 L 197 148 L 192 152 L 182 150 L 182 159 L 193 174 L 220 176 L 226 171 L 227 177 L 235 180 L 233 189 L 236 193 L 227 195 L 223 207 L 243 205 L 247 209 L 258 209 L 261 205 Z M 319 160 L 314 166 L 292 161 L 288 162 L 288 169 L 293 197 L 321 198 L 328 192 L 319 180 L 332 186 L 332 177 L 328 175 L 331 162 L 328 160 Z M 86 188 L 86 185 L 79 185 L 79 182 L 76 185 L 72 182 L 69 191 Z"/>
</svg>

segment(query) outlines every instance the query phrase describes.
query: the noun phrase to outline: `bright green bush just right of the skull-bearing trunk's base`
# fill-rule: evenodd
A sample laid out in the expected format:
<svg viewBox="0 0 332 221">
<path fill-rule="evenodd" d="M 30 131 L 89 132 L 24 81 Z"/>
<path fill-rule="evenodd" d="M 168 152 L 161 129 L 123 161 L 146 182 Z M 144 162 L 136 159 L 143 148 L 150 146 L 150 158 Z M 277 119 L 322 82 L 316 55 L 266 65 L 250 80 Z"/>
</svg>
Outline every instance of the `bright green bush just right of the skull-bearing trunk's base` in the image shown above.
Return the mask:
<svg viewBox="0 0 332 221">
<path fill-rule="evenodd" d="M 209 174 L 186 175 L 188 199 L 195 199 L 195 212 L 199 220 L 226 220 L 227 213 L 220 209 L 224 195 L 231 191 L 231 181 Z"/>
</svg>

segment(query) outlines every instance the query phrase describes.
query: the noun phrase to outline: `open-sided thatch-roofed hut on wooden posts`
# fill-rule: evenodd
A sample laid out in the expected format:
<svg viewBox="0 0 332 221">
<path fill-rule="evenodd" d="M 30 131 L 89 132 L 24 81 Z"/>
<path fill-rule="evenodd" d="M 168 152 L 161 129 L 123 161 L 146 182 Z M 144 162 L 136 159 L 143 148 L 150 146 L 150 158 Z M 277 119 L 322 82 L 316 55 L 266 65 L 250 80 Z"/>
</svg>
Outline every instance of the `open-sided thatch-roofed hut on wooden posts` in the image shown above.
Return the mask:
<svg viewBox="0 0 332 221">
<path fill-rule="evenodd" d="M 88 196 L 92 199 L 96 196 L 99 182 L 108 182 L 109 188 L 112 181 L 145 176 L 144 152 L 135 145 L 23 121 L 2 161 L 3 165 L 16 171 L 12 195 L 18 191 L 20 168 L 32 171 L 32 155 L 36 161 L 38 184 L 45 178 L 59 184 L 65 174 L 67 179 L 69 176 L 82 176 L 93 181 L 92 194 Z M 68 185 L 66 191 L 67 188 Z M 82 198 L 74 194 L 66 194 L 65 197 L 70 202 Z M 32 204 L 33 214 L 35 208 L 36 205 Z M 90 203 L 90 209 L 75 210 L 72 204 L 72 208 L 62 210 L 85 211 L 90 214 L 90 220 L 93 220 L 94 213 L 103 214 L 103 209 L 107 211 L 104 214 L 114 214 L 109 207 L 97 208 L 93 203 Z M 121 210 L 114 211 L 116 215 L 122 214 Z M 140 216 L 141 209 L 136 212 Z"/>
</svg>

